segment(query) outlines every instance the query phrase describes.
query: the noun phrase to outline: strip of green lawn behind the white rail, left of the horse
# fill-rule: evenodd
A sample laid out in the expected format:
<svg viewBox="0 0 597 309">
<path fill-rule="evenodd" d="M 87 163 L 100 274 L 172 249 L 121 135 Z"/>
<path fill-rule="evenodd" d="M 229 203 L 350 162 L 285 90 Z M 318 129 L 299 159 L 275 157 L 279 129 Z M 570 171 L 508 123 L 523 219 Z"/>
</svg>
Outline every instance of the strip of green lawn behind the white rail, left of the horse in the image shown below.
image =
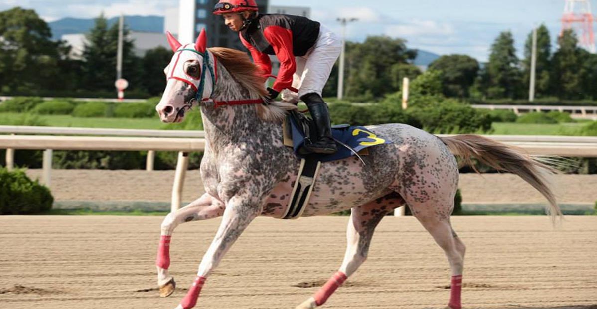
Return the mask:
<svg viewBox="0 0 597 309">
<path fill-rule="evenodd" d="M 0 125 L 10 124 L 8 120 L 21 117 L 19 113 L 0 113 Z M 156 118 L 76 118 L 69 115 L 39 115 L 39 120 L 48 126 L 72 126 L 75 128 L 113 129 L 162 129 L 164 124 Z"/>
</svg>

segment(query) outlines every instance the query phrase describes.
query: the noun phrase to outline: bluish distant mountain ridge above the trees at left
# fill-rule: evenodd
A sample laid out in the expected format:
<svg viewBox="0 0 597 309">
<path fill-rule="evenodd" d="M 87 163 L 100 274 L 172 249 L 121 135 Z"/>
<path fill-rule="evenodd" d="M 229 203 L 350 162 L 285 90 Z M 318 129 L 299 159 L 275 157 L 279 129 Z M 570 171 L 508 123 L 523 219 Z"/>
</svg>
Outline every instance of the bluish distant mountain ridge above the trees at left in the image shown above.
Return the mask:
<svg viewBox="0 0 597 309">
<path fill-rule="evenodd" d="M 118 23 L 118 17 L 108 20 L 108 27 Z M 125 16 L 124 23 L 128 29 L 139 32 L 164 32 L 163 16 Z M 73 33 L 86 33 L 93 28 L 95 21 L 93 18 L 62 18 L 48 23 L 52 30 L 52 38 L 58 40 L 62 35 Z"/>
</svg>

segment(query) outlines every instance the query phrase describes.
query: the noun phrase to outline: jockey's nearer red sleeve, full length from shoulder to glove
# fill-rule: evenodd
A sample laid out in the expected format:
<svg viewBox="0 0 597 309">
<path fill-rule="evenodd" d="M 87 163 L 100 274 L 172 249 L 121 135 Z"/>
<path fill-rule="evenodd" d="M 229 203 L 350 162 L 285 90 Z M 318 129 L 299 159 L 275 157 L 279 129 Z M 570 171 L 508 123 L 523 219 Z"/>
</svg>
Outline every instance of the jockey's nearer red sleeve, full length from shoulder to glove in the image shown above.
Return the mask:
<svg viewBox="0 0 597 309">
<path fill-rule="evenodd" d="M 293 33 L 290 29 L 284 29 L 280 26 L 269 26 L 263 30 L 263 35 L 267 42 L 272 45 L 273 51 L 280 61 L 278 78 L 273 83 L 272 88 L 276 91 L 282 91 L 282 89 L 293 85 L 293 74 L 297 68 L 293 54 Z"/>
</svg>

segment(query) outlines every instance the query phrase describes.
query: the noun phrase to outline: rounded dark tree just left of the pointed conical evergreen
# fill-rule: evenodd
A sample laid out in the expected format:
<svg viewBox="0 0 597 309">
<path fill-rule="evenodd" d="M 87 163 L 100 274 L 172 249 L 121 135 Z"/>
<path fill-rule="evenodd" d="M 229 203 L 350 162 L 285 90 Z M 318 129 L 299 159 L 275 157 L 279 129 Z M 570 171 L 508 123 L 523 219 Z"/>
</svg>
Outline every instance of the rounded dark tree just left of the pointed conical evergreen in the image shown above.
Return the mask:
<svg viewBox="0 0 597 309">
<path fill-rule="evenodd" d="M 469 88 L 479 74 L 479 62 L 467 55 L 443 55 L 429 64 L 441 72 L 442 92 L 446 97 L 469 97 Z"/>
</svg>

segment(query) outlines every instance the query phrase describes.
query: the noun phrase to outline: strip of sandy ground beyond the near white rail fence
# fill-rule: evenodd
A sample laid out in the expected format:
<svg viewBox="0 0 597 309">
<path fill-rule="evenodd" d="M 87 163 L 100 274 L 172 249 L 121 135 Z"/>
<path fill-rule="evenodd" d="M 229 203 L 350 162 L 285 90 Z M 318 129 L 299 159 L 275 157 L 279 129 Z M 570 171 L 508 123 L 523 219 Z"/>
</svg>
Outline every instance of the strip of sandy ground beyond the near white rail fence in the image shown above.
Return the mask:
<svg viewBox="0 0 597 309">
<path fill-rule="evenodd" d="M 40 169 L 27 171 L 41 177 Z M 54 169 L 51 189 L 56 200 L 168 202 L 174 171 L 105 171 Z M 560 203 L 595 203 L 597 175 L 555 175 L 553 184 Z M 545 200 L 521 178 L 512 174 L 461 174 L 464 203 L 544 203 Z M 204 193 L 198 170 L 187 172 L 183 200 L 190 202 Z"/>
</svg>

